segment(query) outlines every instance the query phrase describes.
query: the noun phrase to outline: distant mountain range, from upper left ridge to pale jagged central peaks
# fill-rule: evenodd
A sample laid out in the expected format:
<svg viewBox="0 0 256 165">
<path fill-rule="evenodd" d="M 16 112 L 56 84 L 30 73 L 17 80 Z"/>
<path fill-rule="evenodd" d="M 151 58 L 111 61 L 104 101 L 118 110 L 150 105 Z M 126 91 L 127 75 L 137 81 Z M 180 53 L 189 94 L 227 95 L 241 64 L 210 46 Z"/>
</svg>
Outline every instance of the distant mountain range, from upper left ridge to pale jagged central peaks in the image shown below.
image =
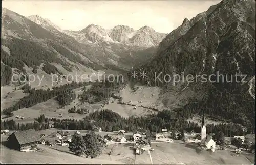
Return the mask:
<svg viewBox="0 0 256 165">
<path fill-rule="evenodd" d="M 2 39 L 15 37 L 32 41 L 49 51 L 57 51 L 58 56 L 66 61 L 78 62 L 95 70 L 130 69 L 150 59 L 165 36 L 148 26 L 138 31 L 124 25 L 105 30 L 91 24 L 81 31 L 63 31 L 39 15 L 24 17 L 2 8 Z M 62 54 L 54 47 L 61 47 L 73 55 L 67 59 L 67 54 Z M 74 57 L 82 60 L 74 60 Z"/>
</svg>

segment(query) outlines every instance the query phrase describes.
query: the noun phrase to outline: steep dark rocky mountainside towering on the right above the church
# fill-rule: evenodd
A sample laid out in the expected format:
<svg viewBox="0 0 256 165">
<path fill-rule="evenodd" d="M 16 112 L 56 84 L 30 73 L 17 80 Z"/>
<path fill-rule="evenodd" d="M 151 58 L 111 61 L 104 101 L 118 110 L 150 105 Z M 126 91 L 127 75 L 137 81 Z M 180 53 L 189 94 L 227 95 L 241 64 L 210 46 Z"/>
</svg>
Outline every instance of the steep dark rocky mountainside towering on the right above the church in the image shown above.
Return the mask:
<svg viewBox="0 0 256 165">
<path fill-rule="evenodd" d="M 255 103 L 252 97 L 255 81 L 255 1 L 225 0 L 190 21 L 185 19 L 159 44 L 158 55 L 139 68 L 144 68 L 147 73 L 144 82 L 153 86 L 170 86 L 170 83 L 155 81 L 155 73 L 163 72 L 159 76 L 162 80 L 166 74 L 184 73 L 185 77 L 188 74 L 194 77 L 222 74 L 228 79 L 221 78 L 217 82 L 218 77 L 212 76 L 209 78 L 211 82 L 208 79 L 204 85 L 185 81 L 182 91 L 185 92 L 190 85 L 201 86 L 201 90 L 208 92 L 202 100 L 196 101 L 197 108 L 205 109 L 208 114 L 215 112 L 217 116 L 236 121 L 248 120 L 253 124 L 254 119 L 250 116 L 254 116 Z M 239 82 L 235 80 L 236 74 Z M 246 82 L 241 82 L 245 75 Z M 231 78 L 233 80 L 229 82 Z M 238 116 L 234 117 L 233 113 Z"/>
</svg>

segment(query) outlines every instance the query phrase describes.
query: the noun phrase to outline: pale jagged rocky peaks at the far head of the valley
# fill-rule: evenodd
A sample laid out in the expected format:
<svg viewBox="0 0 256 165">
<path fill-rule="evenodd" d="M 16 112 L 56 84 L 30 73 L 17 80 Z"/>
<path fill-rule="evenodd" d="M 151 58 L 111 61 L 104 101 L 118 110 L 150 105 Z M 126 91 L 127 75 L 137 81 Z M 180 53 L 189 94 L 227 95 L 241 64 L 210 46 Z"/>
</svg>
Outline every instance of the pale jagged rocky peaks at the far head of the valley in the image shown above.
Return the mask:
<svg viewBox="0 0 256 165">
<path fill-rule="evenodd" d="M 65 31 L 65 33 L 86 44 L 108 42 L 145 48 L 157 47 L 166 36 L 166 34 L 158 33 L 148 26 L 144 26 L 137 31 L 125 25 L 117 25 L 110 30 L 106 30 L 94 24 L 88 25 L 81 31 Z"/>
</svg>

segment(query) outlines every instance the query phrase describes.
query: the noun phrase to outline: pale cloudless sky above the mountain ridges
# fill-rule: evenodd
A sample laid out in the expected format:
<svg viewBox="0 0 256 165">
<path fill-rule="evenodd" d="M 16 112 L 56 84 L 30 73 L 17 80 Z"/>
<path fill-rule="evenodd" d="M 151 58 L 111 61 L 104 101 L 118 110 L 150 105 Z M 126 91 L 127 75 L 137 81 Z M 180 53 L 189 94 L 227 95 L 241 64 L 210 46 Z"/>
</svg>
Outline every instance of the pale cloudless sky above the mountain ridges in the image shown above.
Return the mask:
<svg viewBox="0 0 256 165">
<path fill-rule="evenodd" d="M 157 32 L 170 33 L 185 18 L 206 11 L 214 1 L 22 1 L 4 0 L 2 7 L 23 16 L 39 15 L 50 19 L 62 30 L 78 31 L 89 24 L 105 29 L 127 25 L 138 30 L 150 26 Z"/>
</svg>

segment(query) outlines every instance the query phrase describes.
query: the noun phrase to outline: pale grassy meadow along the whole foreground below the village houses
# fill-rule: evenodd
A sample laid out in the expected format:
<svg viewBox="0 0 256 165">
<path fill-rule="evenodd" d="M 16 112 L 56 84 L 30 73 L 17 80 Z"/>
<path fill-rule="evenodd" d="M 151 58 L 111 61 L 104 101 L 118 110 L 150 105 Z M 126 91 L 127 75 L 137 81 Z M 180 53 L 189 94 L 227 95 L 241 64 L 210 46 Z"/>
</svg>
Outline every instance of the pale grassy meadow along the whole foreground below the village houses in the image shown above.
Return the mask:
<svg viewBox="0 0 256 165">
<path fill-rule="evenodd" d="M 56 129 L 40 131 L 50 134 Z M 70 133 L 75 131 L 70 131 Z M 83 130 L 80 130 L 84 133 Z M 108 132 L 101 132 L 106 134 Z M 113 133 L 113 132 L 112 132 Z M 1 139 L 7 136 L 1 135 Z M 39 152 L 19 152 L 1 144 L 2 163 L 58 163 L 58 164 L 253 164 L 254 155 L 242 153 L 236 156 L 230 150 L 215 152 L 201 150 L 195 143 L 175 141 L 174 143 L 154 142 L 154 151 L 135 155 L 133 143 L 112 144 L 103 148 L 102 154 L 94 159 L 75 156 L 68 147 L 38 145 Z M 109 155 L 109 152 L 112 153 Z M 152 162 L 151 162 L 152 159 Z"/>
</svg>

